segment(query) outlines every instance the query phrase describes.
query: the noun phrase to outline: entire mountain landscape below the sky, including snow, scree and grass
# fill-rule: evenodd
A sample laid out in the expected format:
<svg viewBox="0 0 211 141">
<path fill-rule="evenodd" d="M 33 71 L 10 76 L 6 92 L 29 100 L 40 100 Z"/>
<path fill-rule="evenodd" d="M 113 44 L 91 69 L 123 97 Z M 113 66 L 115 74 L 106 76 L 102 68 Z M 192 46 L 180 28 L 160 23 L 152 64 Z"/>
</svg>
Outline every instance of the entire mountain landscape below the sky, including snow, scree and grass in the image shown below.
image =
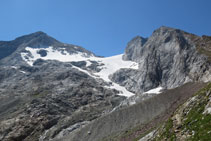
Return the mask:
<svg viewBox="0 0 211 141">
<path fill-rule="evenodd" d="M 162 26 L 100 57 L 46 33 L 0 41 L 0 140 L 211 140 L 211 37 Z"/>
</svg>

